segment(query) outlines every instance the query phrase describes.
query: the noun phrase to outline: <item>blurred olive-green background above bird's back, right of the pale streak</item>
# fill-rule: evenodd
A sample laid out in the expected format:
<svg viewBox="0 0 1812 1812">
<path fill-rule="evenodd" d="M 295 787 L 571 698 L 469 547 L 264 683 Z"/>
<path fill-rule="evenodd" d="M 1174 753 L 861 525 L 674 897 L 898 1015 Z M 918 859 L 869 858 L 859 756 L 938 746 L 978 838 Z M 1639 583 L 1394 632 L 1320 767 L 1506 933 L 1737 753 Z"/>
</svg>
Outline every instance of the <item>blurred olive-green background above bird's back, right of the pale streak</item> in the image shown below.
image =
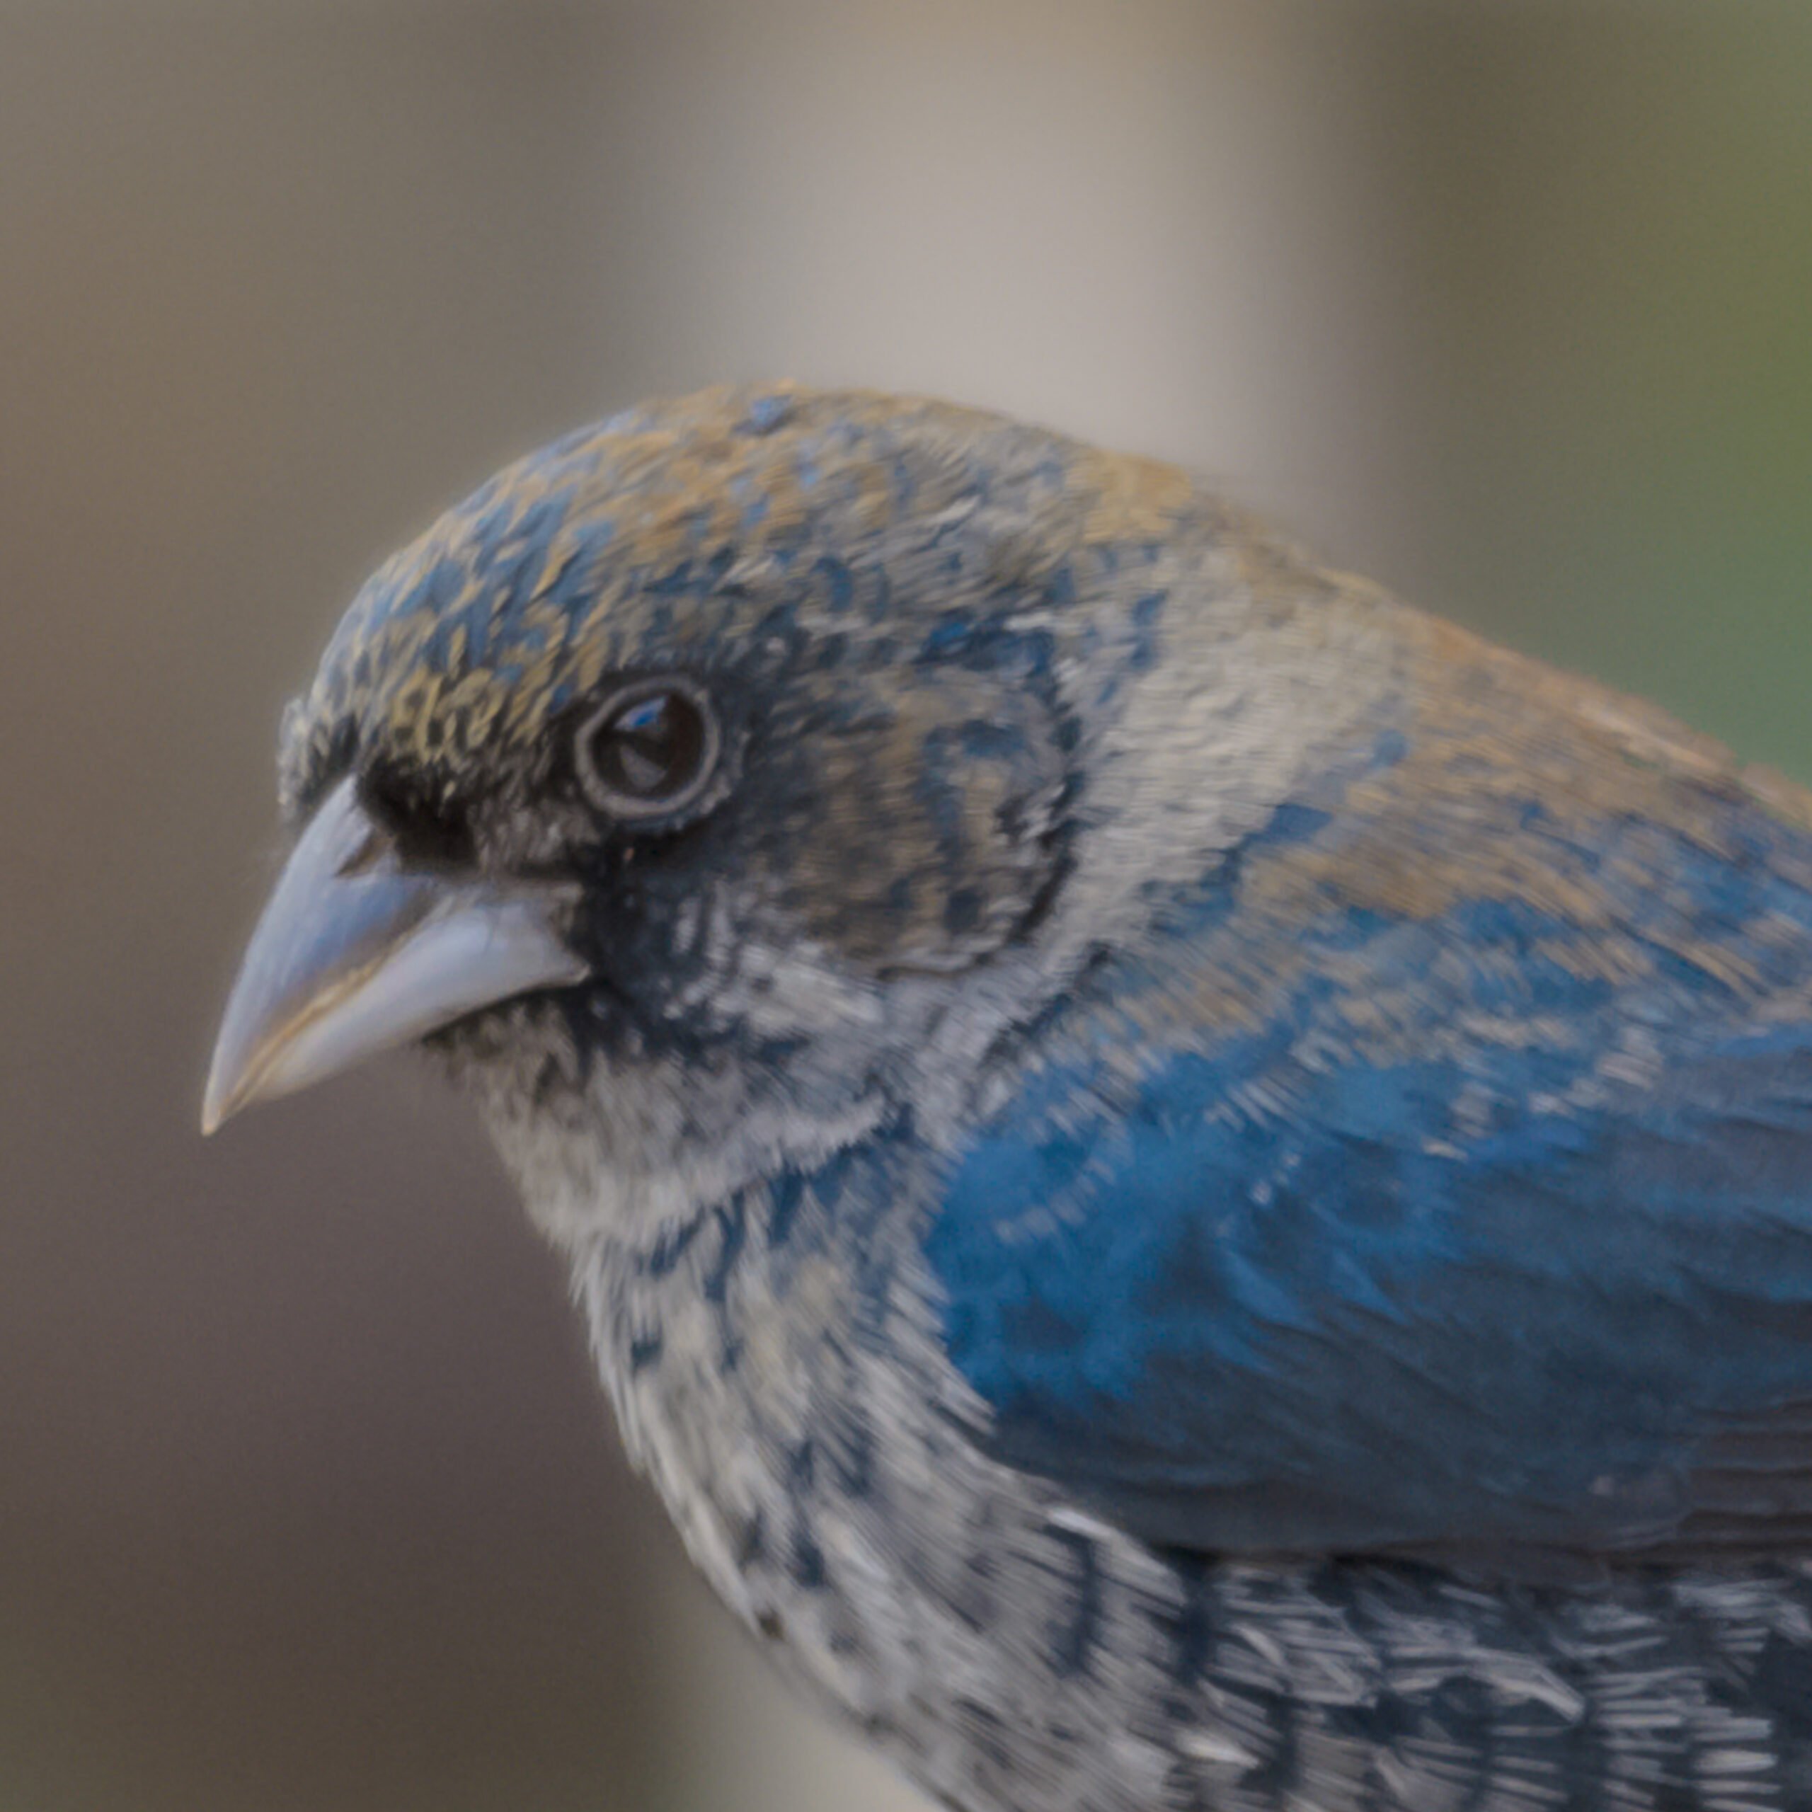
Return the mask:
<svg viewBox="0 0 1812 1812">
<path fill-rule="evenodd" d="M 1410 0 L 1392 576 L 1812 777 L 1812 7 Z"/>
</svg>

